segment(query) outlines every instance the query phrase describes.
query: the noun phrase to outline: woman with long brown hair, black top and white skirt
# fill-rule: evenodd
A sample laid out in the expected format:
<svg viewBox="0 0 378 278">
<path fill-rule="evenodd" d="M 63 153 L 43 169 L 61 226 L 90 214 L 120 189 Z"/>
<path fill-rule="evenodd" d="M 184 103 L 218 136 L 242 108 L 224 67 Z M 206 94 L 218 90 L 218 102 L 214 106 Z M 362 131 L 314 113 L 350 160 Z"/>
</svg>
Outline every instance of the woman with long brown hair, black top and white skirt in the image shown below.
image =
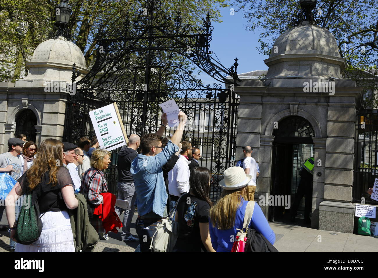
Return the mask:
<svg viewBox="0 0 378 278">
<path fill-rule="evenodd" d="M 30 245 L 17 244 L 16 252 L 75 252 L 68 210 L 77 208 L 70 172 L 63 166 L 63 143 L 46 139 L 33 165 L 20 177 L 6 197 L 6 217 L 15 240 L 14 202 L 23 194 L 32 194 L 29 205 L 38 202 L 42 233 Z M 25 198 L 26 199 L 26 198 Z"/>
</svg>

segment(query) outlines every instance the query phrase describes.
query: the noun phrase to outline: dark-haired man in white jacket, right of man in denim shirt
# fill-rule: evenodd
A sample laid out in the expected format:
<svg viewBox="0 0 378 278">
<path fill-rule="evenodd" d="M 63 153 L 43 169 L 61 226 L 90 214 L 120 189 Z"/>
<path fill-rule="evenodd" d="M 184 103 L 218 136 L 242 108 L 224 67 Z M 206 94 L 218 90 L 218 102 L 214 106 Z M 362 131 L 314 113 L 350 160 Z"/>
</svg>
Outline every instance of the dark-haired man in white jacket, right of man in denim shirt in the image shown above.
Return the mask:
<svg viewBox="0 0 378 278">
<path fill-rule="evenodd" d="M 178 155 L 178 160 L 172 170 L 168 172 L 168 190 L 170 195 L 169 209 L 172 210 L 175 206 L 178 198 L 182 194 L 189 192 L 189 163 L 186 157 L 183 156 L 187 152 L 187 149 L 191 149 L 192 146 L 188 141 L 182 141 L 182 151 Z M 185 145 L 185 146 L 184 146 Z M 184 151 L 185 148 L 185 151 Z"/>
</svg>

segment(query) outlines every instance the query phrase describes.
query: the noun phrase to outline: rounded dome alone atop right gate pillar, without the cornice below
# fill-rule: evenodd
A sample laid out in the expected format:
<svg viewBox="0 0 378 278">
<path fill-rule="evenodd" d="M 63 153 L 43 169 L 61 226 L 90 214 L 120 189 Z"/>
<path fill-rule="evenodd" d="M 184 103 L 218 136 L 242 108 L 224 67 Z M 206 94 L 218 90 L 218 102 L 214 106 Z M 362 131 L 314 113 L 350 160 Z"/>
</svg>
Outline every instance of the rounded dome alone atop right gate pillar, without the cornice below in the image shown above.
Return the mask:
<svg viewBox="0 0 378 278">
<path fill-rule="evenodd" d="M 325 28 L 304 22 L 281 34 L 269 57 L 279 54 L 319 53 L 341 57 L 333 34 Z M 277 49 L 277 47 L 278 49 Z"/>
</svg>

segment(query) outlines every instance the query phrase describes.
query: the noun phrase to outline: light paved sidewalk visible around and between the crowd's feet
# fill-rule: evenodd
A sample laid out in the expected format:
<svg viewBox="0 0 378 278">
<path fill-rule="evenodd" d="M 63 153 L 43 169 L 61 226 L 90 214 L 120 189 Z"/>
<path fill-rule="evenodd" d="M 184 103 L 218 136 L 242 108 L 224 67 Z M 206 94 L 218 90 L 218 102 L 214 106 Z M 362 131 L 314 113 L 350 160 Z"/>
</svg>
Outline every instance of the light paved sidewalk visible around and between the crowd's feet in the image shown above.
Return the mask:
<svg viewBox="0 0 378 278">
<path fill-rule="evenodd" d="M 130 229 L 134 236 L 137 216 L 135 212 Z M 123 219 L 122 214 L 121 219 Z M 5 213 L 1 224 L 6 224 Z M 279 252 L 376 252 L 378 250 L 376 236 L 315 230 L 280 222 L 269 222 L 269 224 L 276 234 L 274 246 Z M 330 233 L 337 235 L 330 235 Z M 118 233 L 110 232 L 109 240 L 100 240 L 95 252 L 134 252 L 138 242 L 122 242 L 121 234 L 120 229 Z M 8 231 L 0 231 L 0 252 L 10 252 Z"/>
</svg>

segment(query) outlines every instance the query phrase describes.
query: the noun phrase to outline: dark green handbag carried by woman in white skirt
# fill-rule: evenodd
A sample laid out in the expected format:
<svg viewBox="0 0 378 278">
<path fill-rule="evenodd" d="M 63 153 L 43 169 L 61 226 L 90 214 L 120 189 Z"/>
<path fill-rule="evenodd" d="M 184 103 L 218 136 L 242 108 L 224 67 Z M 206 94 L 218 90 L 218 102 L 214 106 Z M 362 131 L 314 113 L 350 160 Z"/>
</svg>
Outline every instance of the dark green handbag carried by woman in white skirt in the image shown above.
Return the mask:
<svg viewBox="0 0 378 278">
<path fill-rule="evenodd" d="M 31 200 L 31 194 L 29 194 L 27 198 Z M 53 207 L 55 203 L 56 201 L 50 208 Z M 50 210 L 50 208 L 48 210 Z M 29 208 L 25 207 L 25 205 L 21 207 L 15 233 L 15 239 L 18 243 L 29 245 L 39 238 L 42 233 L 41 217 L 45 215 L 45 213 L 39 216 L 39 204 L 37 201 Z"/>
</svg>

